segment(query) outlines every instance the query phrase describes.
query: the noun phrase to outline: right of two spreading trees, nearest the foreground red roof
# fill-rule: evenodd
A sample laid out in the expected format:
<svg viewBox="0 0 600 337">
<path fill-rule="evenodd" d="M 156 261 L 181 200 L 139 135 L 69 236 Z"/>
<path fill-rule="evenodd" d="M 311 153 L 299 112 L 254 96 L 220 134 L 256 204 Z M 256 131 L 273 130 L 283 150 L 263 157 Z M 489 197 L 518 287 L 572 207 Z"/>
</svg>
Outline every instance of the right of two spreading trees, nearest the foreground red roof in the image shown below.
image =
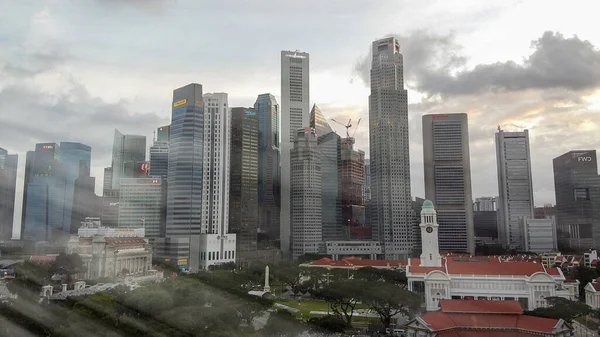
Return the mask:
<svg viewBox="0 0 600 337">
<path fill-rule="evenodd" d="M 386 327 L 390 326 L 393 316 L 402 314 L 412 317 L 421 306 L 419 295 L 382 281 L 370 283 L 370 287 L 363 291 L 362 298 Z"/>
</svg>

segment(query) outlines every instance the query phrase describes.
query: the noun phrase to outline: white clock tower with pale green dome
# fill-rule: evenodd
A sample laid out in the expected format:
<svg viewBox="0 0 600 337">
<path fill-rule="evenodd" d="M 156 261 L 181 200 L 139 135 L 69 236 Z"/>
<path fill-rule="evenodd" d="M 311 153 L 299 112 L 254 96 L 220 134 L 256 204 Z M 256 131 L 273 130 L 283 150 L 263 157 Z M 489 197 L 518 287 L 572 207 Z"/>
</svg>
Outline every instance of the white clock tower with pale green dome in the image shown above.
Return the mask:
<svg viewBox="0 0 600 337">
<path fill-rule="evenodd" d="M 430 200 L 423 202 L 421 209 L 421 266 L 422 267 L 441 267 L 442 257 L 440 256 L 440 247 L 438 244 L 437 215 Z"/>
</svg>

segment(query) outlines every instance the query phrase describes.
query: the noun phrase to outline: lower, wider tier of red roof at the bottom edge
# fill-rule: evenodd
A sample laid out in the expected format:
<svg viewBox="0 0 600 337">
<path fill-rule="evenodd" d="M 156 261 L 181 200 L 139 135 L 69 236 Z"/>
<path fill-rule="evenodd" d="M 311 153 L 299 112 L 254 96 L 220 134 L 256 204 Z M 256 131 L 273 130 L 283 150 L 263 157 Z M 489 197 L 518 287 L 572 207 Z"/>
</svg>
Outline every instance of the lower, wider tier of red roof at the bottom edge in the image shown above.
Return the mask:
<svg viewBox="0 0 600 337">
<path fill-rule="evenodd" d="M 513 328 L 535 332 L 552 332 L 558 320 L 526 315 L 458 314 L 431 311 L 421 316 L 433 330 L 453 328 Z"/>
</svg>

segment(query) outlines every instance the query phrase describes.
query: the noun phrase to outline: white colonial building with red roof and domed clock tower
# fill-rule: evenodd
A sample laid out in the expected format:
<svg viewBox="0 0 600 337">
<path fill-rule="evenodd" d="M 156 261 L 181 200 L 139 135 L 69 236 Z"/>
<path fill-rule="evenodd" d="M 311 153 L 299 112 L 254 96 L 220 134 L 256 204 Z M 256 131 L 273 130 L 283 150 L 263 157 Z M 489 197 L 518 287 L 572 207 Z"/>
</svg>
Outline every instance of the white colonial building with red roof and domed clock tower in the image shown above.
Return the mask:
<svg viewBox="0 0 600 337">
<path fill-rule="evenodd" d="M 511 300 L 533 310 L 546 306 L 547 297 L 577 297 L 578 283 L 565 282 L 559 268 L 492 256 L 442 258 L 437 215 L 429 200 L 423 203 L 420 227 L 421 258 L 408 260 L 406 277 L 410 290 L 424 294 L 428 311 L 438 310 L 441 299 Z"/>
</svg>

